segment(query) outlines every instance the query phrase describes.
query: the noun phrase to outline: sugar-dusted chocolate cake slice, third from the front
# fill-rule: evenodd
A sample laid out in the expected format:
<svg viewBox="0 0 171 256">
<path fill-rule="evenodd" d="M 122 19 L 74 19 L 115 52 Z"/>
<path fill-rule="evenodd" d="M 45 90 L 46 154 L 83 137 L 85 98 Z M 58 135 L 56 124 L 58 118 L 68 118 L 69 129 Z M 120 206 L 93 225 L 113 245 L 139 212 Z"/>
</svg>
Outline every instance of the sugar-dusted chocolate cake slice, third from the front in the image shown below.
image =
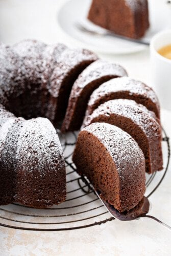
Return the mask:
<svg viewBox="0 0 171 256">
<path fill-rule="evenodd" d="M 130 77 L 120 77 L 103 83 L 91 94 L 83 124 L 100 104 L 119 98 L 135 100 L 160 118 L 160 105 L 153 89 Z"/>
</svg>

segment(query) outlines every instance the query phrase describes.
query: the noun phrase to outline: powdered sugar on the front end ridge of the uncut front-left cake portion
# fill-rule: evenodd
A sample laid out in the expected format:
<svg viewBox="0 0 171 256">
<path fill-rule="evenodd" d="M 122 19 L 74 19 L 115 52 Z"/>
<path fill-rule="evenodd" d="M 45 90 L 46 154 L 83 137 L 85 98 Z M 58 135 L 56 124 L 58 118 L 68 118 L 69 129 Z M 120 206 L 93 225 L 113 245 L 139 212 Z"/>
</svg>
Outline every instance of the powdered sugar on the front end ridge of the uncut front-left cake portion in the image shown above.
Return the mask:
<svg viewBox="0 0 171 256">
<path fill-rule="evenodd" d="M 27 172 L 36 168 L 41 175 L 45 174 L 49 166 L 55 172 L 64 168 L 60 141 L 48 119 L 36 118 L 23 123 L 17 143 L 16 159 L 18 168 L 22 166 Z"/>
</svg>

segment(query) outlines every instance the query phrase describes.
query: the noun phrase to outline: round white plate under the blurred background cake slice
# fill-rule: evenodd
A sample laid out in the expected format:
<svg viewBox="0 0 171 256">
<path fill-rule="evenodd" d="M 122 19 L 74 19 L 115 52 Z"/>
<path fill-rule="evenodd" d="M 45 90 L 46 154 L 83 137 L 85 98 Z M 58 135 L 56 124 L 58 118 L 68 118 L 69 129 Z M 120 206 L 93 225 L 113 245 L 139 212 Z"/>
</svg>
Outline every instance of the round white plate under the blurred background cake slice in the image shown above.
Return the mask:
<svg viewBox="0 0 171 256">
<path fill-rule="evenodd" d="M 150 41 L 155 33 L 171 28 L 171 4 L 166 2 L 166 0 L 149 0 L 151 26 L 143 40 Z M 67 35 L 81 41 L 88 49 L 101 53 L 126 54 L 146 48 L 144 45 L 113 36 L 97 36 L 80 31 L 76 26 L 78 22 L 87 24 L 92 30 L 101 29 L 88 22 L 86 18 L 90 4 L 91 0 L 69 0 L 59 10 L 58 23 Z"/>
</svg>

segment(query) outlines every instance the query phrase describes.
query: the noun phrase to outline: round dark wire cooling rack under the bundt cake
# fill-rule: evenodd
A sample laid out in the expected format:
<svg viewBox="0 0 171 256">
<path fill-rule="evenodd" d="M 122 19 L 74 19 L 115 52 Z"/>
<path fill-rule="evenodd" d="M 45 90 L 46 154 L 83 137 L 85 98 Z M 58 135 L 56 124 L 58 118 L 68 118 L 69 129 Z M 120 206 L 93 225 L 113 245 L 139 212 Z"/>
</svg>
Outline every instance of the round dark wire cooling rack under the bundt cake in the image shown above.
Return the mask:
<svg viewBox="0 0 171 256">
<path fill-rule="evenodd" d="M 48 209 L 34 209 L 17 203 L 0 206 L 0 226 L 33 231 L 61 231 L 91 227 L 114 220 L 89 183 L 76 172 L 72 152 L 77 133 L 68 133 L 65 136 L 59 133 L 59 137 L 66 163 L 66 201 Z M 155 193 L 168 169 L 170 147 L 164 130 L 162 149 L 164 169 L 146 175 L 146 197 Z"/>
</svg>

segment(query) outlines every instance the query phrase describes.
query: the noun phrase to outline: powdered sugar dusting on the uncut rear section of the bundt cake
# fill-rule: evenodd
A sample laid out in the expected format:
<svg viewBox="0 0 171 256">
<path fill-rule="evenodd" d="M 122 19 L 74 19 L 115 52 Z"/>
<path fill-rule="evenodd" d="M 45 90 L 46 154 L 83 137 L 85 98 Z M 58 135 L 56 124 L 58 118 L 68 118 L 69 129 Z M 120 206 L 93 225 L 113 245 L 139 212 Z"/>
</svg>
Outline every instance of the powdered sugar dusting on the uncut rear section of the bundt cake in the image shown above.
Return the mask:
<svg viewBox="0 0 171 256">
<path fill-rule="evenodd" d="M 37 40 L 23 40 L 13 47 L 1 44 L 0 53 L 0 103 L 13 111 L 11 98 L 20 97 L 16 115 L 22 115 L 24 109 L 27 118 L 35 111 L 37 116 L 52 121 L 62 82 L 83 61 L 97 59 L 87 50 L 69 49 L 63 44 L 46 45 Z M 32 101 L 30 107 L 22 103 L 26 101 L 22 99 L 26 92 Z"/>
</svg>

